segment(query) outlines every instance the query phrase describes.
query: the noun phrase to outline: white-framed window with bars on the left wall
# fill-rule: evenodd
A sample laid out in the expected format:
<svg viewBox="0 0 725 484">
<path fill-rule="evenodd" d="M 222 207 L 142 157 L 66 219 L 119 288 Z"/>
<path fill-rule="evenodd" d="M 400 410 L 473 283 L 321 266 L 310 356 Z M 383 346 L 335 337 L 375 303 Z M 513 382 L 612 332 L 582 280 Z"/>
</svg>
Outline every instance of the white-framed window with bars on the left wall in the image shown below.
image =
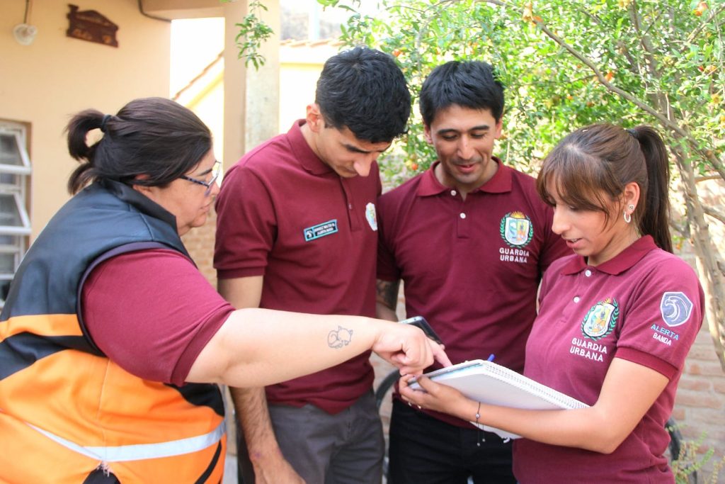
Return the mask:
<svg viewBox="0 0 725 484">
<path fill-rule="evenodd" d="M 0 307 L 28 248 L 26 191 L 31 169 L 27 146 L 25 126 L 0 121 Z"/>
</svg>

